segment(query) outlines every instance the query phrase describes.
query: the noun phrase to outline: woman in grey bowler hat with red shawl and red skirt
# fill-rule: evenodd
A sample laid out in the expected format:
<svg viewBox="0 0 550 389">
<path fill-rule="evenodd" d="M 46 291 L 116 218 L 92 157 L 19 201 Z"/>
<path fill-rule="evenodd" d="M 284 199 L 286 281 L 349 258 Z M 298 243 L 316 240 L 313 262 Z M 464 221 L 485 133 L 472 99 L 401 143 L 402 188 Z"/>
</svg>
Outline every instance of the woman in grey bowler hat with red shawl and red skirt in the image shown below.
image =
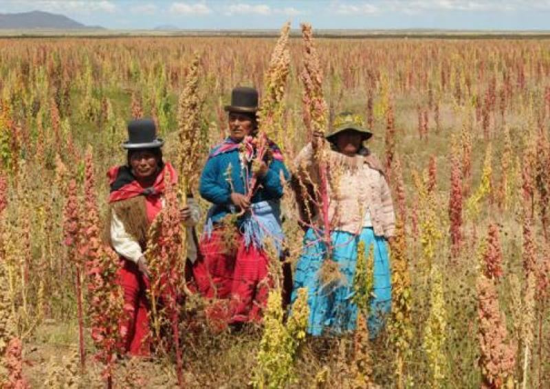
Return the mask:
<svg viewBox="0 0 550 389">
<path fill-rule="evenodd" d="M 128 151 L 127 164 L 109 169 L 111 184 L 109 210 L 111 225 L 109 238 L 115 252 L 123 260 L 118 280 L 124 289 L 124 311 L 128 320 L 122 323 L 126 352 L 131 355 L 148 355 L 149 285 L 147 261 L 144 257 L 147 231 L 155 216 L 164 206 L 164 175 L 168 170 L 173 184 L 177 181 L 175 169 L 163 162 L 162 139 L 157 138 L 153 120 L 134 120 L 128 124 L 129 140 L 122 144 Z M 189 198 L 180 216 L 185 221 L 189 242 L 187 256 L 197 258 L 193 226 L 199 219 L 199 207 Z"/>
</svg>

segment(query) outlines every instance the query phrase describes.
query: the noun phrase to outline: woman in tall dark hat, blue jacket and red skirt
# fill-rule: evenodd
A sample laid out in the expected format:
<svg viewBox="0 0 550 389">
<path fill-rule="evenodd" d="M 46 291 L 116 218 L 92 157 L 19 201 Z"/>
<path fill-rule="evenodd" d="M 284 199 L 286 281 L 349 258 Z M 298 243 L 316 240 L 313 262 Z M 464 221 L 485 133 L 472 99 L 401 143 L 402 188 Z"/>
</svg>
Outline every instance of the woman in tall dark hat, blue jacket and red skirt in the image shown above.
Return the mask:
<svg viewBox="0 0 550 389">
<path fill-rule="evenodd" d="M 212 206 L 194 274 L 203 296 L 230 299 L 227 310 L 210 314 L 222 323 L 261 320 L 270 286 L 265 244 L 271 239 L 280 250 L 283 241 L 279 202 L 289 173 L 270 141 L 263 161 L 254 162 L 257 105 L 256 89 L 233 89 L 225 107 L 230 136 L 212 148 L 200 180 Z"/>
</svg>

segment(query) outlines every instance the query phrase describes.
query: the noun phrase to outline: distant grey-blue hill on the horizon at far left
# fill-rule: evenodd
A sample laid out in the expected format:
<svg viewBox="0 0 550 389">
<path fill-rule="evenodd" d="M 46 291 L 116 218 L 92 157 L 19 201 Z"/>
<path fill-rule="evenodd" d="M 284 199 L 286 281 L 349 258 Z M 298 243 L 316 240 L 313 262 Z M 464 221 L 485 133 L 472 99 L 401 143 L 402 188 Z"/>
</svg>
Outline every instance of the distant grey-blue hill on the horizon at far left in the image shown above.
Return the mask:
<svg viewBox="0 0 550 389">
<path fill-rule="evenodd" d="M 103 27 L 88 26 L 61 14 L 32 11 L 19 14 L 0 14 L 0 30 L 100 30 Z"/>
</svg>

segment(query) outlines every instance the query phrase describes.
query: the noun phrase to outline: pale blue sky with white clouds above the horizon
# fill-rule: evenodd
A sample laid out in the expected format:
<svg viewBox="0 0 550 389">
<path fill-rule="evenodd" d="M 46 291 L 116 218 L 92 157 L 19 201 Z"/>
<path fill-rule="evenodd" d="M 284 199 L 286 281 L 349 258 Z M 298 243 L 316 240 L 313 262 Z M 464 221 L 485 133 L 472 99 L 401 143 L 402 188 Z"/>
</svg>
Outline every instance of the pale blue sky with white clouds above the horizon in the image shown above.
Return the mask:
<svg viewBox="0 0 550 389">
<path fill-rule="evenodd" d="M 0 13 L 42 10 L 117 30 L 550 30 L 550 0 L 0 0 Z"/>
</svg>

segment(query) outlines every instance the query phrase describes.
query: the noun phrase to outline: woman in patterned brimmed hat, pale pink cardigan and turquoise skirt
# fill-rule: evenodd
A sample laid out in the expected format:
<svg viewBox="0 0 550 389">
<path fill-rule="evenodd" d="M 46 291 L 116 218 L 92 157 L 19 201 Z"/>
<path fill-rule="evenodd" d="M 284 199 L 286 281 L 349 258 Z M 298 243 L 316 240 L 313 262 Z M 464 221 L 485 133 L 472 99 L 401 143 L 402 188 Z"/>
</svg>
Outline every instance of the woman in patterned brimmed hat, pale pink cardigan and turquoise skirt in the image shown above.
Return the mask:
<svg viewBox="0 0 550 389">
<path fill-rule="evenodd" d="M 322 134 L 316 133 L 315 136 Z M 296 298 L 297 289 L 307 287 L 308 331 L 312 335 L 322 335 L 326 331 L 340 334 L 355 329 L 358 308 L 353 280 L 360 241 L 364 242 L 366 255 L 369 255 L 371 246 L 374 252 L 374 297 L 368 320 L 371 335 L 379 331 L 384 314 L 391 307 L 391 271 L 386 240 L 393 236 L 395 215 L 380 163 L 363 145 L 371 136 L 359 115 L 344 112 L 336 116 L 333 131 L 326 137 L 331 146 L 325 155 L 329 164 L 331 258 L 325 258 L 327 247 L 322 238 L 320 210 L 307 201 L 300 201 L 307 199 L 308 194 L 300 191 L 296 196 L 303 220 L 307 220 L 308 215 L 312 217 L 308 220 L 303 254 L 296 266 L 292 299 Z M 310 143 L 296 157 L 297 178 L 305 184 L 297 188 L 320 188 L 314 151 Z M 318 201 L 311 203 L 319 204 Z"/>
</svg>

